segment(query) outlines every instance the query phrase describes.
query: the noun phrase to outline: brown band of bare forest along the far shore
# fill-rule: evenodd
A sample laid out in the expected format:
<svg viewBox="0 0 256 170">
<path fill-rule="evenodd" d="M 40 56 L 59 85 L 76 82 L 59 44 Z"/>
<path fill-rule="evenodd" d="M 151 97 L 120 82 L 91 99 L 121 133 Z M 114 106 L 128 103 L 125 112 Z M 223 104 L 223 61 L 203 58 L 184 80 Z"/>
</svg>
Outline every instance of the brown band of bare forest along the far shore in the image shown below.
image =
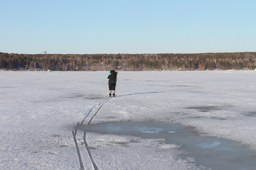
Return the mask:
<svg viewBox="0 0 256 170">
<path fill-rule="evenodd" d="M 0 53 L 5 70 L 251 70 L 256 52 L 198 54 L 14 54 Z"/>
</svg>

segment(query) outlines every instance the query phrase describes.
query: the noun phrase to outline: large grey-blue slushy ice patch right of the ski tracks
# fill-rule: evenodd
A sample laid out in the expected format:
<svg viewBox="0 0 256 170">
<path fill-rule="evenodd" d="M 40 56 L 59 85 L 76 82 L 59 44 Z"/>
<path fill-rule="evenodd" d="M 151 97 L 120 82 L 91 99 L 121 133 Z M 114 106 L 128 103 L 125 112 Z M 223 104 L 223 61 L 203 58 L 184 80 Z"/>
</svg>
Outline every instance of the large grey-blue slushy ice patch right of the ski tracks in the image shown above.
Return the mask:
<svg viewBox="0 0 256 170">
<path fill-rule="evenodd" d="M 256 169 L 255 151 L 235 141 L 203 137 L 194 128 L 162 122 L 103 122 L 82 125 L 81 130 L 101 134 L 133 135 L 141 138 L 164 138 L 166 143 L 180 145 L 179 149 L 195 158 L 197 165 L 212 169 Z"/>
</svg>

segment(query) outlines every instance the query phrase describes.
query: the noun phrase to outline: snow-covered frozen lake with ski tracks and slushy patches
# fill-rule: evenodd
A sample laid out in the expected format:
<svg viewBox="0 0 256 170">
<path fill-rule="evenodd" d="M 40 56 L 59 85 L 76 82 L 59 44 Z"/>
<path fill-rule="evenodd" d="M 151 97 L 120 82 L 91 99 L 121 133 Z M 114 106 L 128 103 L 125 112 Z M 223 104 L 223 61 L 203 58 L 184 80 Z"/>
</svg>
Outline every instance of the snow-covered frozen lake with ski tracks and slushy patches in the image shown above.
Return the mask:
<svg viewBox="0 0 256 170">
<path fill-rule="evenodd" d="M 0 169 L 256 169 L 256 71 L 108 73 L 0 71 Z"/>
</svg>

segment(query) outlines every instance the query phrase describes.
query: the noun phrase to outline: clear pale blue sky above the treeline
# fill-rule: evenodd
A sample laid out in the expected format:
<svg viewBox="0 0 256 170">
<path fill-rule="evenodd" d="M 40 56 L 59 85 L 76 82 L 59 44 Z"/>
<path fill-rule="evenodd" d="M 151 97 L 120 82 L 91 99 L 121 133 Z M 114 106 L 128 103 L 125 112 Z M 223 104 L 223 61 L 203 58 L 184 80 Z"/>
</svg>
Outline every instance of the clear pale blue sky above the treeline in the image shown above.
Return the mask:
<svg viewBox="0 0 256 170">
<path fill-rule="evenodd" d="M 0 0 L 0 52 L 256 52 L 255 0 Z"/>
</svg>

